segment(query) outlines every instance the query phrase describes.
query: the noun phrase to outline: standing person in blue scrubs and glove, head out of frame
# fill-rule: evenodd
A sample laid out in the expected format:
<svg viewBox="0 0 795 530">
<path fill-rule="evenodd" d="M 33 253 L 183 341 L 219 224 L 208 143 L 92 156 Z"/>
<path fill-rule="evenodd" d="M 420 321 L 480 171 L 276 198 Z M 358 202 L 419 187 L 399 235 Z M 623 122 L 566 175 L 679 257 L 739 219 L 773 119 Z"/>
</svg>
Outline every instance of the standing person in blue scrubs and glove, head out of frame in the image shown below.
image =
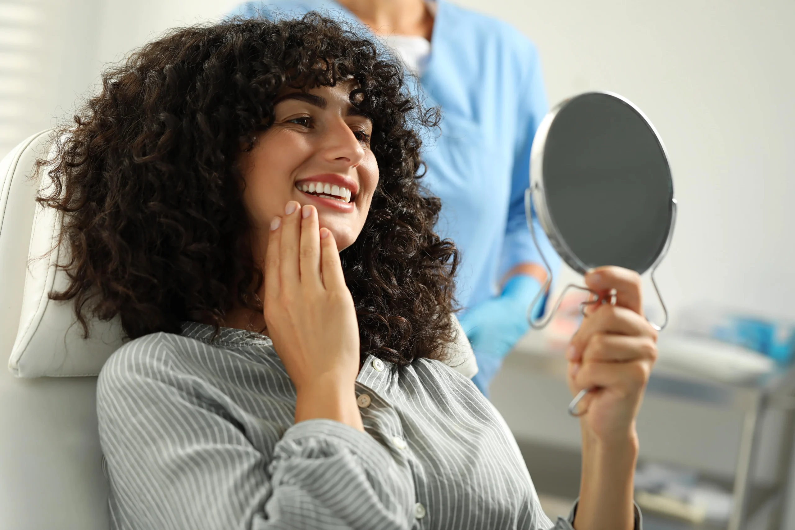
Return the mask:
<svg viewBox="0 0 795 530">
<path fill-rule="evenodd" d="M 478 362 L 472 381 L 487 394 L 527 331 L 527 309 L 546 277 L 524 207 L 530 146 L 548 110 L 538 52 L 505 22 L 444 0 L 264 0 L 233 14 L 308 11 L 373 32 L 417 75 L 426 103 L 442 110 L 440 133 L 423 147 L 423 184 L 442 201 L 437 231 L 461 253 L 459 319 Z M 533 223 L 555 270 L 560 258 Z"/>
</svg>

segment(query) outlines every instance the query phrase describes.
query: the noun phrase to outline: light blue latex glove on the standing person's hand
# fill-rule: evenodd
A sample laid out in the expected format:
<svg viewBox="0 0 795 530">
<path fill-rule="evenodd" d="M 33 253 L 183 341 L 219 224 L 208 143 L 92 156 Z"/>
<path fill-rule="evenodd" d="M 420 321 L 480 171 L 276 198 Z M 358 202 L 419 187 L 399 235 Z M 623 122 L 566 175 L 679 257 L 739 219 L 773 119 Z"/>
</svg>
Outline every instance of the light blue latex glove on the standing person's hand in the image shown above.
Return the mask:
<svg viewBox="0 0 795 530">
<path fill-rule="evenodd" d="M 538 280 L 518 274 L 508 280 L 500 296 L 481 302 L 460 317 L 478 362 L 472 382 L 483 395 L 488 396 L 488 385 L 502 366 L 502 359 L 527 332 L 527 308 L 539 290 Z M 534 315 L 544 308 L 545 299 L 541 298 Z"/>
</svg>

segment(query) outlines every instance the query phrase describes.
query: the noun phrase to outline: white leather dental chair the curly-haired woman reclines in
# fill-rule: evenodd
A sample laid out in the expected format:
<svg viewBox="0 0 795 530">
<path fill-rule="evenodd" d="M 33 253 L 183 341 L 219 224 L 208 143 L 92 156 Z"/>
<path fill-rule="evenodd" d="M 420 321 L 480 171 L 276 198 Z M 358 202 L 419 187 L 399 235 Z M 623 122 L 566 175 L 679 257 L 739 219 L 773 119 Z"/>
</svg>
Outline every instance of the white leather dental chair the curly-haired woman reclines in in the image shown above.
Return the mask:
<svg viewBox="0 0 795 530">
<path fill-rule="evenodd" d="M 35 200 L 49 183 L 46 168 L 33 173 L 51 135 L 34 134 L 0 162 L 0 358 L 9 360 L 0 366 L 0 530 L 107 530 L 96 375 L 122 329 L 92 321 L 83 339 L 72 304 L 48 299 L 67 280 L 56 269 L 64 249 L 50 252 L 60 217 Z M 477 372 L 460 326 L 448 364 Z"/>
</svg>

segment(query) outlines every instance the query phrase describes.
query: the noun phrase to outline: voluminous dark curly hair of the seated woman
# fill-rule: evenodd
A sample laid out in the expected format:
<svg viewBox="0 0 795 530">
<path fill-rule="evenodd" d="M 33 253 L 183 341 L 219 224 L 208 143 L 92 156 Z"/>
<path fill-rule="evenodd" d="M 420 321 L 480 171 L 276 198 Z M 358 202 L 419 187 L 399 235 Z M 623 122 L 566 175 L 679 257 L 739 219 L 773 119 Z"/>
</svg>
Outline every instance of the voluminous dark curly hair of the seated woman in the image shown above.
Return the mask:
<svg viewBox="0 0 795 530">
<path fill-rule="evenodd" d="M 454 334 L 458 253 L 433 230 L 440 201 L 420 186 L 417 130 L 439 113 L 368 38 L 311 13 L 174 29 L 102 78 L 75 124 L 56 135 L 51 192 L 78 321 L 121 318 L 130 339 L 215 323 L 235 302 L 262 311 L 238 159 L 273 123 L 287 87 L 354 79 L 351 103 L 373 122 L 380 179 L 362 233 L 341 253 L 361 354 L 406 365 L 441 358 Z"/>
</svg>

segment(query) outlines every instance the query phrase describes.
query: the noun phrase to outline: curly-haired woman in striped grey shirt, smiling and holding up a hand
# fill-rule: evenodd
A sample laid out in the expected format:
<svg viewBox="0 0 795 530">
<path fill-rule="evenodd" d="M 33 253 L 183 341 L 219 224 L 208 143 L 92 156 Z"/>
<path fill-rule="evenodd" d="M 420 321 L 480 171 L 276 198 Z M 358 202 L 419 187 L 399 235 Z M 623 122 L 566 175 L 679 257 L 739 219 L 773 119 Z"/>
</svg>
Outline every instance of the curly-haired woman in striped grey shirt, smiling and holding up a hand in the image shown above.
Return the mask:
<svg viewBox="0 0 795 530">
<path fill-rule="evenodd" d="M 443 362 L 456 250 L 432 231 L 401 68 L 333 21 L 176 30 L 107 72 L 41 200 L 78 315 L 130 342 L 99 377 L 113 528 L 553 528 L 498 412 Z M 340 252 L 341 251 L 341 252 Z M 639 528 L 655 355 L 638 277 L 570 352 L 576 512 Z"/>
</svg>

